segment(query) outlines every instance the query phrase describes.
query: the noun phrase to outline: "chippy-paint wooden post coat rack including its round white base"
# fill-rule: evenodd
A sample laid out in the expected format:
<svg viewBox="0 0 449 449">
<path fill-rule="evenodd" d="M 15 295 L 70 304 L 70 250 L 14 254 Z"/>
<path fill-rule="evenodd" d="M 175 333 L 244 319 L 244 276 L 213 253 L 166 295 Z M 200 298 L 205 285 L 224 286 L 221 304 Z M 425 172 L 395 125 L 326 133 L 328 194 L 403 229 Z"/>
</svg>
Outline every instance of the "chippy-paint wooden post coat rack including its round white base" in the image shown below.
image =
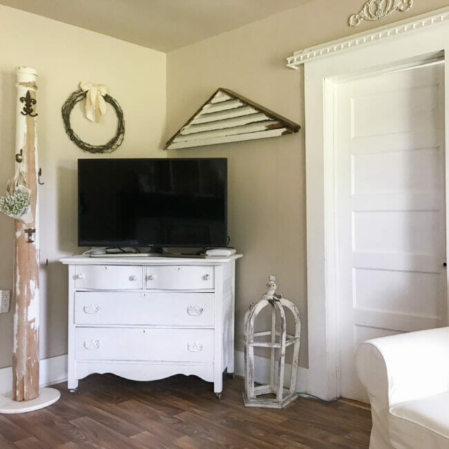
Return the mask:
<svg viewBox="0 0 449 449">
<path fill-rule="evenodd" d="M 55 403 L 55 388 L 39 390 L 39 207 L 37 195 L 37 71 L 17 68 L 15 177 L 8 195 L 26 193 L 29 207 L 15 218 L 12 392 L 0 396 L 0 413 L 30 412 Z"/>
</svg>

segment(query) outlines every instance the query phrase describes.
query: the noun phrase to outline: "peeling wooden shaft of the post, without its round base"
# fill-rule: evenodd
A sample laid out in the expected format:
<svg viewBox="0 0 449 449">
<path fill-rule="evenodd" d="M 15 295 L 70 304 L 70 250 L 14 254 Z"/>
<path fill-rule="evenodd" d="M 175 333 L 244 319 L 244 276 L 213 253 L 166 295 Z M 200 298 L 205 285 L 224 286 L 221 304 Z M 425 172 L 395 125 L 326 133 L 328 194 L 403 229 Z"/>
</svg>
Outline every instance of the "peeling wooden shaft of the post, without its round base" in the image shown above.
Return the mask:
<svg viewBox="0 0 449 449">
<path fill-rule="evenodd" d="M 37 208 L 37 73 L 17 69 L 16 154 L 22 150 L 16 173 L 23 173 L 30 189 L 32 222 L 15 220 L 15 312 L 12 347 L 12 399 L 39 396 L 39 217 Z M 26 229 L 36 229 L 33 242 Z"/>
</svg>

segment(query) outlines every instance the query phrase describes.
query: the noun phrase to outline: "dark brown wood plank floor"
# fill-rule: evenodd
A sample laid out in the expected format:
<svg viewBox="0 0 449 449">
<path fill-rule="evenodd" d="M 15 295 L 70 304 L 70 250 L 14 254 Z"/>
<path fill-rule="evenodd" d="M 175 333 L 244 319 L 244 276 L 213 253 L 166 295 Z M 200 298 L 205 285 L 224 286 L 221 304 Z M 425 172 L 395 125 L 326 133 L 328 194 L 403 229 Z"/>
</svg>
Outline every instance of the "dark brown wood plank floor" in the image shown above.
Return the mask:
<svg viewBox="0 0 449 449">
<path fill-rule="evenodd" d="M 370 412 L 298 398 L 283 410 L 245 408 L 242 379 L 222 399 L 189 376 L 134 382 L 106 374 L 24 414 L 0 414 L 0 448 L 367 448 Z"/>
</svg>

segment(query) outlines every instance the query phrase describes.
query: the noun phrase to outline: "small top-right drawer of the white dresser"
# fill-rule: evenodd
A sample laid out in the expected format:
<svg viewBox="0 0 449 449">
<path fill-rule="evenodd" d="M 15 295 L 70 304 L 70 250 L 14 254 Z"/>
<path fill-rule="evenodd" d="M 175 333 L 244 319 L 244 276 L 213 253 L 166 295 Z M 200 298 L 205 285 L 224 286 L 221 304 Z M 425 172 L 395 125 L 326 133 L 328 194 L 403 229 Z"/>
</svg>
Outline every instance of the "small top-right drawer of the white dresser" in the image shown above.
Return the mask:
<svg viewBox="0 0 449 449">
<path fill-rule="evenodd" d="M 146 267 L 145 278 L 147 289 L 213 289 L 213 267 Z"/>
</svg>

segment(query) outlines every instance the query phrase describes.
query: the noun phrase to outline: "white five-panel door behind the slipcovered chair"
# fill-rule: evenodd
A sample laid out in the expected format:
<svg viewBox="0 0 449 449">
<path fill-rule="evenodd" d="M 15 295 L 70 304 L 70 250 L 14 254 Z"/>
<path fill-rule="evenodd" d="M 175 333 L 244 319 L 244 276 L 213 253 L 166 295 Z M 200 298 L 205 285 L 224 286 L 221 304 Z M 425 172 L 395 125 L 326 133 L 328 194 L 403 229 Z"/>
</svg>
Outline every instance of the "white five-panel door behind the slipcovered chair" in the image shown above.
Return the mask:
<svg viewBox="0 0 449 449">
<path fill-rule="evenodd" d="M 354 352 L 447 323 L 444 66 L 339 84 L 341 394 L 367 402 Z"/>
</svg>

